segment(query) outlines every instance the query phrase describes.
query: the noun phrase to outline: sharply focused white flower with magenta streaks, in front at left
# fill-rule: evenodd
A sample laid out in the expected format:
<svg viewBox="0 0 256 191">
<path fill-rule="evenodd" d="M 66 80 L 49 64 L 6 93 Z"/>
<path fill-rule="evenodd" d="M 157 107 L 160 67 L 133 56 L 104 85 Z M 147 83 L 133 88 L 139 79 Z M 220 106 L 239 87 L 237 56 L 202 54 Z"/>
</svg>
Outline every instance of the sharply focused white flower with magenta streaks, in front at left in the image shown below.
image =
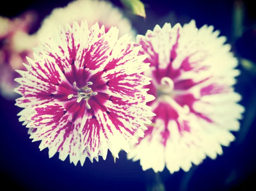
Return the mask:
<svg viewBox="0 0 256 191">
<path fill-rule="evenodd" d="M 116 27 L 105 33 L 98 23 L 90 29 L 83 21 L 67 24 L 28 58 L 27 71 L 18 71 L 20 121 L 33 141 L 41 140 L 41 150 L 49 148 L 49 157 L 70 155 L 75 165 L 86 157 L 105 160 L 108 149 L 118 157 L 143 136 L 154 115 L 146 102 L 154 97 L 143 89 L 150 83 L 141 74 L 149 68 L 146 56 L 137 56 L 140 47 L 130 38 L 118 40 Z"/>
</svg>

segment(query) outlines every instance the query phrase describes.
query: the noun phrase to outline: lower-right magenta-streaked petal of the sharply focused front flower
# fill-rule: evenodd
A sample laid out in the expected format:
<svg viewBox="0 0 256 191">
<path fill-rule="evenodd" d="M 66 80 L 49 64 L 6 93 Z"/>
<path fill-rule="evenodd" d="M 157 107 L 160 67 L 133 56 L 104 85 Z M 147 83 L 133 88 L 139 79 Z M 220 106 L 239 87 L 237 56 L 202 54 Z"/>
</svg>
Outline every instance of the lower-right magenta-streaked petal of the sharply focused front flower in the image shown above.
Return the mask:
<svg viewBox="0 0 256 191">
<path fill-rule="evenodd" d="M 128 142 L 137 142 L 134 137 L 140 131 L 140 124 L 151 123 L 145 117 L 152 115 L 150 108 L 143 106 L 140 97 L 138 100 L 125 100 L 98 94 L 89 100 L 89 104 L 91 109 L 84 116 L 81 137 L 83 148 L 88 147 L 93 156 L 99 151 L 106 154 L 105 145 L 109 142 L 112 143 L 109 149 L 114 155 L 118 155 L 120 148 L 128 152 Z"/>
</svg>

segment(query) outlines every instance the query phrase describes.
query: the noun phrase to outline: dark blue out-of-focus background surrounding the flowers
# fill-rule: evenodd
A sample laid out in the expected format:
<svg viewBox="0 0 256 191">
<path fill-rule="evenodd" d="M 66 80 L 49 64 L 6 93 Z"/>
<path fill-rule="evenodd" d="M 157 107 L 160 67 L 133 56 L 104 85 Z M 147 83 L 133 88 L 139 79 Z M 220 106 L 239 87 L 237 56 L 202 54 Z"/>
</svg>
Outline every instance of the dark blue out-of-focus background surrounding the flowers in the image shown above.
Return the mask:
<svg viewBox="0 0 256 191">
<path fill-rule="evenodd" d="M 9 0 L 1 4 L 0 15 L 13 17 L 25 10 L 38 11 L 39 21 L 56 6 L 65 6 L 67 0 L 23 0 L 19 4 Z M 228 37 L 237 57 L 245 57 L 256 62 L 256 37 L 250 27 L 256 23 L 253 3 L 245 4 L 244 26 L 246 33 L 238 41 L 231 41 L 233 0 L 144 0 L 147 4 L 147 19 L 133 17 L 134 28 L 140 34 L 153 29 L 159 23 L 180 22 L 181 24 L 195 19 L 197 26 L 213 25 Z M 113 0 L 121 6 L 118 0 Z M 174 11 L 176 19 L 168 17 Z M 38 22 L 33 31 L 40 26 Z M 224 154 L 216 160 L 207 158 L 199 166 L 169 174 L 165 169 L 160 176 L 165 183 L 166 191 L 221 191 L 221 190 L 256 190 L 253 185 L 256 173 L 256 75 L 239 66 L 241 75 L 236 91 L 242 94 L 241 104 L 247 108 L 245 120 L 241 121 L 241 131 L 234 133 L 237 140 L 230 147 L 223 147 Z M 111 153 L 107 159 L 91 163 L 86 160 L 84 166 L 74 166 L 69 159 L 62 162 L 56 154 L 48 158 L 48 149 L 39 151 L 40 142 L 31 143 L 27 128 L 18 122 L 16 116 L 21 108 L 14 101 L 6 101 L 0 97 L 0 174 L 3 190 L 27 191 L 145 191 L 154 184 L 155 174 L 150 169 L 142 171 L 139 162 L 126 160 L 122 151 L 116 164 Z M 248 186 L 251 188 L 248 188 Z"/>
</svg>

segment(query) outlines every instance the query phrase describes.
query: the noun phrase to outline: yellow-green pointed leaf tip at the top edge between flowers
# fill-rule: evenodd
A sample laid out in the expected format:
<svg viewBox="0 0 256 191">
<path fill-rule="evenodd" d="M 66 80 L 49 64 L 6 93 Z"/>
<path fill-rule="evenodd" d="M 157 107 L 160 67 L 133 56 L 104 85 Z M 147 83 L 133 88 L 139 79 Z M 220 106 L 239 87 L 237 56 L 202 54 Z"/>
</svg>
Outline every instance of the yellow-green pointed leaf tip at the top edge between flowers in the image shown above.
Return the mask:
<svg viewBox="0 0 256 191">
<path fill-rule="evenodd" d="M 133 14 L 146 18 L 145 6 L 140 0 L 120 0 Z"/>
</svg>

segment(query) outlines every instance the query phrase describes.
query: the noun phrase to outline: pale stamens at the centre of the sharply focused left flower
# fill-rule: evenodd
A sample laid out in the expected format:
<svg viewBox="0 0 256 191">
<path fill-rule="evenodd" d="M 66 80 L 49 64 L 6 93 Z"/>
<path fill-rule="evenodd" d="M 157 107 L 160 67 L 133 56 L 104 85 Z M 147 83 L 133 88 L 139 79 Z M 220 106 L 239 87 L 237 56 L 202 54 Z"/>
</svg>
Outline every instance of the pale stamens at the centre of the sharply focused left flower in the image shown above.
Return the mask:
<svg viewBox="0 0 256 191">
<path fill-rule="evenodd" d="M 92 88 L 89 87 L 91 85 L 93 85 L 92 82 L 87 82 L 87 86 L 84 86 L 83 88 L 78 88 L 76 86 L 76 82 L 74 82 L 73 88 L 77 89 L 78 94 L 77 95 L 69 94 L 67 96 L 67 99 L 71 99 L 72 97 L 77 97 L 77 100 L 76 100 L 77 103 L 81 102 L 81 100 L 85 100 L 87 109 L 90 109 L 91 107 L 88 103 L 89 98 L 91 96 L 96 96 L 98 94 L 98 92 L 92 91 Z"/>
</svg>

